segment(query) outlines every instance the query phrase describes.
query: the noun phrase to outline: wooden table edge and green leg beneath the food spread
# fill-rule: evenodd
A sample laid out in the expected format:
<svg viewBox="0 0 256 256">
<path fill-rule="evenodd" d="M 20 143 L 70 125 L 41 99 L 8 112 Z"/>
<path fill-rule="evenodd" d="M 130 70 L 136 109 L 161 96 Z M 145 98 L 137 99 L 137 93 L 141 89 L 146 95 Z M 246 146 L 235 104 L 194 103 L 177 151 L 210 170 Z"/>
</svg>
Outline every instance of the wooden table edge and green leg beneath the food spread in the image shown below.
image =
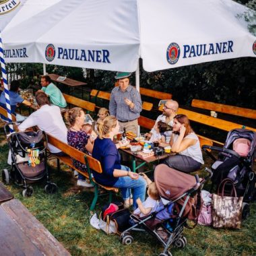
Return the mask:
<svg viewBox="0 0 256 256">
<path fill-rule="evenodd" d="M 173 153 L 170 153 L 170 154 L 164 153 L 162 156 L 149 156 L 148 158 L 143 158 L 142 156 L 139 156 L 137 154 L 137 152 L 132 152 L 130 149 L 119 148 L 119 150 L 129 154 L 132 157 L 132 167 L 131 167 L 131 170 L 133 172 L 136 172 L 136 170 L 139 169 L 141 166 L 144 166 L 145 164 L 149 164 L 150 162 L 158 161 L 158 164 L 159 164 L 160 160 L 168 158 L 168 156 L 171 156 L 173 154 Z M 137 160 L 142 161 L 142 163 L 138 164 L 136 166 Z"/>
</svg>

